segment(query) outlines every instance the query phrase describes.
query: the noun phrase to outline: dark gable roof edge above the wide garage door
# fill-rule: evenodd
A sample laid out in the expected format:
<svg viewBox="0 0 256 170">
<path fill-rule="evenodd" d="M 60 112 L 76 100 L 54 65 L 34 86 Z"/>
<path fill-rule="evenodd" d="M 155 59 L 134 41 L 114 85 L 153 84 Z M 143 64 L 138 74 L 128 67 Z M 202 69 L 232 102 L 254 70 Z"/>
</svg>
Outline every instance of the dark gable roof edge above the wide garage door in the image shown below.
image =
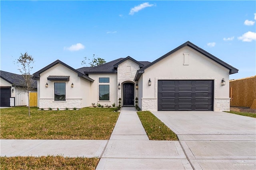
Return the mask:
<svg viewBox="0 0 256 170">
<path fill-rule="evenodd" d="M 229 65 L 228 63 L 225 63 L 224 61 L 218 59 L 217 57 L 215 57 L 214 55 L 208 53 L 207 51 L 205 51 L 204 49 L 194 45 L 193 43 L 187 41 L 185 43 L 183 43 L 182 45 L 176 47 L 175 49 L 173 49 L 172 51 L 164 54 L 162 57 L 156 59 L 155 61 L 153 61 L 152 63 L 146 65 L 145 67 L 142 67 L 141 69 L 139 69 L 135 75 L 135 81 L 138 81 L 140 79 L 140 76 L 144 73 L 144 70 L 148 67 L 150 67 L 151 65 L 154 65 L 155 63 L 157 63 L 158 61 L 164 59 L 165 57 L 171 55 L 172 53 L 178 51 L 179 49 L 188 46 L 191 47 L 192 49 L 198 51 L 199 53 L 203 54 L 204 56 L 212 59 L 213 61 L 215 61 L 216 63 L 222 65 L 223 67 L 226 67 L 227 69 L 229 69 L 229 74 L 234 74 L 234 73 L 238 73 L 238 69 L 236 69 L 235 67 L 232 67 L 231 65 Z"/>
</svg>

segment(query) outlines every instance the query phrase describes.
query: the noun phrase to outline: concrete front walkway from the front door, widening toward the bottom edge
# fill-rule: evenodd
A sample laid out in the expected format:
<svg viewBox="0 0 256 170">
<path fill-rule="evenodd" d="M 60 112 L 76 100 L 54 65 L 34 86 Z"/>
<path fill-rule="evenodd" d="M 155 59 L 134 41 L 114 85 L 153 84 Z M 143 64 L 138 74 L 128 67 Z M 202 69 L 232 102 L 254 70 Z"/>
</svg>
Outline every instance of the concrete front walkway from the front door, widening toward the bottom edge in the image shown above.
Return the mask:
<svg viewBox="0 0 256 170">
<path fill-rule="evenodd" d="M 179 141 L 149 140 L 134 107 L 123 107 L 97 170 L 192 169 Z"/>
</svg>

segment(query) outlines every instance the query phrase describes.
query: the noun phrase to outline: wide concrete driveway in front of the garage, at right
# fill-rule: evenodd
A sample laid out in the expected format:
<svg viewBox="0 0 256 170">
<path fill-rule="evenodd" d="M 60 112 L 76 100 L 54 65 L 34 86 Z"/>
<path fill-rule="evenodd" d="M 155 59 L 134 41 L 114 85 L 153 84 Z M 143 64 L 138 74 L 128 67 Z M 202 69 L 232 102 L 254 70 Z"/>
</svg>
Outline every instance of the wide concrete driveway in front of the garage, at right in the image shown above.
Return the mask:
<svg viewBox="0 0 256 170">
<path fill-rule="evenodd" d="M 256 169 L 256 119 L 225 112 L 153 112 L 194 169 Z"/>
</svg>

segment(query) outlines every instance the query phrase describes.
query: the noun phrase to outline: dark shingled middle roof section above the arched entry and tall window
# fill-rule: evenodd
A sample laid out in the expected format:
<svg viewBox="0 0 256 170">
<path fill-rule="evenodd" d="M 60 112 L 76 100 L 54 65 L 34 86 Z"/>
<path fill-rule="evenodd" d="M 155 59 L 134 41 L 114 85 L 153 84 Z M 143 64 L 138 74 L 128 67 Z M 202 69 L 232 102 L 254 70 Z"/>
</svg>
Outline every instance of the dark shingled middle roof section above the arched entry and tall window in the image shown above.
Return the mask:
<svg viewBox="0 0 256 170">
<path fill-rule="evenodd" d="M 132 57 L 128 56 L 126 58 L 119 58 L 119 59 L 110 61 L 108 63 L 98 65 L 96 67 L 82 67 L 77 70 L 80 71 L 81 73 L 85 73 L 85 74 L 86 73 L 117 73 L 117 69 L 116 69 L 115 65 L 125 61 L 128 58 L 130 59 Z M 134 59 L 132 59 L 132 60 L 134 60 Z M 136 61 L 136 60 L 134 60 L 134 61 Z M 137 62 L 141 66 L 146 66 L 150 63 L 149 61 L 136 61 L 136 63 Z"/>
</svg>

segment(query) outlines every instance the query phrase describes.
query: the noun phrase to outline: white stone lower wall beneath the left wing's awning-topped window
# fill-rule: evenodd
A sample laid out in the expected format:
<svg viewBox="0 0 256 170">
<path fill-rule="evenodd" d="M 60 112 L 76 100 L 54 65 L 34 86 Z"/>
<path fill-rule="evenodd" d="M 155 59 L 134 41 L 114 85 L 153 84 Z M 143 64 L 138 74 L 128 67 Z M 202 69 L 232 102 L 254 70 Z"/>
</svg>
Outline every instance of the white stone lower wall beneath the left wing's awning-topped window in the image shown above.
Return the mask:
<svg viewBox="0 0 256 170">
<path fill-rule="evenodd" d="M 65 109 L 65 108 L 82 108 L 82 99 L 66 99 L 66 101 L 54 101 L 54 99 L 39 99 L 39 109 Z"/>
</svg>

